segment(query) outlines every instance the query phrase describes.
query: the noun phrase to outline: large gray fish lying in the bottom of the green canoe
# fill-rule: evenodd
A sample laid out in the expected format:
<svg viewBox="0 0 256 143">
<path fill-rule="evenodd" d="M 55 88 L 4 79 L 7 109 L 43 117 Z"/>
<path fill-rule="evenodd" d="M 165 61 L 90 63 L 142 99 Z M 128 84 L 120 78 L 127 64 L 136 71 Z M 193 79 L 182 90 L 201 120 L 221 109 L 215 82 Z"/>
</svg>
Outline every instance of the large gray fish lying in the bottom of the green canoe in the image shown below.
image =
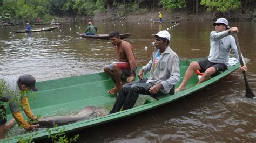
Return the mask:
<svg viewBox="0 0 256 143">
<path fill-rule="evenodd" d="M 105 109 L 96 108 L 93 106 L 85 106 L 78 112 L 77 115 L 64 115 L 64 116 L 52 116 L 39 118 L 37 124 L 41 127 L 54 127 L 55 124 L 58 126 L 75 123 L 76 121 L 96 118 L 99 116 L 106 115 Z"/>
</svg>

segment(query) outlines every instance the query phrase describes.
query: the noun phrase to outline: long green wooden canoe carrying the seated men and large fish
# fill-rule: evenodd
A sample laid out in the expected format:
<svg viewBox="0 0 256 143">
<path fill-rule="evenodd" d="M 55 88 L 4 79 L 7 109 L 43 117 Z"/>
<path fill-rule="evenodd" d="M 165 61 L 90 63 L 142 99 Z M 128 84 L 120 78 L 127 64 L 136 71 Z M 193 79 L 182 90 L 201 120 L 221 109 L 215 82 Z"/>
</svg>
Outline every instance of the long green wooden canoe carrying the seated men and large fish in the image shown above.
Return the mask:
<svg viewBox="0 0 256 143">
<path fill-rule="evenodd" d="M 198 59 L 180 61 L 181 80 L 176 85 L 176 87 L 178 87 L 178 85 L 183 80 L 186 69 L 188 65 L 190 65 L 190 62 L 197 60 Z M 57 133 L 63 128 L 65 129 L 66 133 L 82 130 L 87 127 L 96 126 L 117 119 L 136 115 L 140 112 L 144 112 L 153 108 L 157 108 L 158 106 L 171 103 L 179 98 L 190 95 L 197 90 L 203 89 L 214 82 L 217 82 L 221 78 L 237 70 L 239 66 L 240 63 L 235 66 L 229 66 L 226 71 L 215 74 L 212 78 L 210 78 L 210 80 L 199 85 L 196 85 L 198 82 L 198 77 L 196 74 L 194 74 L 191 80 L 187 83 L 187 90 L 178 92 L 175 95 L 165 95 L 158 97 L 157 99 L 146 95 L 140 95 L 136 105 L 132 109 L 120 111 L 111 115 L 59 126 L 56 128 L 58 129 L 58 131 L 53 131 L 52 133 Z M 148 77 L 149 73 L 146 76 Z M 138 80 L 137 77 L 136 80 Z M 95 73 L 89 75 L 60 78 L 57 80 L 37 82 L 37 87 L 39 91 L 35 95 L 35 99 L 30 99 L 30 106 L 35 115 L 41 115 L 42 117 L 55 116 L 57 112 L 62 112 L 63 110 L 79 110 L 86 105 L 105 108 L 107 111 L 110 111 L 114 102 L 116 101 L 117 96 L 110 95 L 107 92 L 107 90 L 114 87 L 114 83 L 111 78 L 108 77 L 105 73 Z M 11 119 L 12 117 L 10 110 L 7 109 L 7 111 L 8 119 Z M 25 117 L 24 114 L 23 116 Z M 44 131 L 45 130 L 38 130 L 21 135 L 15 135 L 9 138 L 5 138 L 4 140 L 0 140 L 0 142 L 15 142 L 18 138 L 26 138 L 29 137 L 29 135 L 35 135 L 35 133 L 37 134 L 35 135 L 34 140 L 48 138 L 48 133 L 45 133 Z"/>
</svg>

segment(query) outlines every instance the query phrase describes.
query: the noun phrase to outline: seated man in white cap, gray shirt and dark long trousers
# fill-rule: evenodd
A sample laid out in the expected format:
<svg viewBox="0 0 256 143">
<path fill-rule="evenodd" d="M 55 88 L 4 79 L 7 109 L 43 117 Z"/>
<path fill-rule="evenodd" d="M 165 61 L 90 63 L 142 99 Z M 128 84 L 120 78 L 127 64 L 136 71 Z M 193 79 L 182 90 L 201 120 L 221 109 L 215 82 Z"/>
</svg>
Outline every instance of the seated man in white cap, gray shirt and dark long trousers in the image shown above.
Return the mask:
<svg viewBox="0 0 256 143">
<path fill-rule="evenodd" d="M 132 108 L 139 94 L 150 96 L 174 94 L 175 84 L 180 79 L 179 57 L 169 46 L 171 35 L 168 31 L 160 31 L 153 35 L 156 39 L 156 49 L 152 53 L 151 60 L 139 70 L 139 81 L 127 83 L 121 88 L 110 113 L 120 111 L 122 106 L 123 110 Z M 143 74 L 148 71 L 150 77 L 143 78 Z"/>
</svg>

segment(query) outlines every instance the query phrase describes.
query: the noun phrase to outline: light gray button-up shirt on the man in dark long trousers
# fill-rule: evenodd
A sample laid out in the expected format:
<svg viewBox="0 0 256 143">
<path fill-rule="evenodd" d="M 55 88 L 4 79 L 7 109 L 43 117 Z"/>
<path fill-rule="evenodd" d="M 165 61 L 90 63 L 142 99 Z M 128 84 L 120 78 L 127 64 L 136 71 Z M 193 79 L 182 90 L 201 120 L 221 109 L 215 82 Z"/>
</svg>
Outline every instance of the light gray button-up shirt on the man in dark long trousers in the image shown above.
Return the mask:
<svg viewBox="0 0 256 143">
<path fill-rule="evenodd" d="M 150 77 L 147 80 L 147 83 L 154 82 L 156 84 L 161 83 L 163 88 L 160 89 L 163 94 L 170 92 L 170 89 L 173 85 L 177 84 L 180 79 L 179 71 L 179 57 L 172 51 L 168 46 L 165 51 L 162 53 L 161 58 L 158 61 L 157 67 L 154 70 L 154 60 L 156 59 L 156 54 L 159 49 L 156 49 L 152 53 L 152 58 L 147 63 L 146 66 L 143 66 L 144 75 L 150 71 Z"/>
</svg>

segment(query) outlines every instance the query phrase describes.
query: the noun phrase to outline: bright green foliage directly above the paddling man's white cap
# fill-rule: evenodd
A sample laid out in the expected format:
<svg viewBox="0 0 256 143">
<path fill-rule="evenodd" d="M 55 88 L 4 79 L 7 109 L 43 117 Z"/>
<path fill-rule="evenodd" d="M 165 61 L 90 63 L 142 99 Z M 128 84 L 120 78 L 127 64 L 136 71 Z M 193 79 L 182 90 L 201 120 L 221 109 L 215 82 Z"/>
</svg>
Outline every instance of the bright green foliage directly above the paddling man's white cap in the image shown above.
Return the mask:
<svg viewBox="0 0 256 143">
<path fill-rule="evenodd" d="M 207 6 L 207 11 L 218 11 L 218 12 L 228 12 L 230 10 L 235 10 L 240 8 L 241 3 L 239 0 L 202 0 L 201 5 Z"/>
</svg>

